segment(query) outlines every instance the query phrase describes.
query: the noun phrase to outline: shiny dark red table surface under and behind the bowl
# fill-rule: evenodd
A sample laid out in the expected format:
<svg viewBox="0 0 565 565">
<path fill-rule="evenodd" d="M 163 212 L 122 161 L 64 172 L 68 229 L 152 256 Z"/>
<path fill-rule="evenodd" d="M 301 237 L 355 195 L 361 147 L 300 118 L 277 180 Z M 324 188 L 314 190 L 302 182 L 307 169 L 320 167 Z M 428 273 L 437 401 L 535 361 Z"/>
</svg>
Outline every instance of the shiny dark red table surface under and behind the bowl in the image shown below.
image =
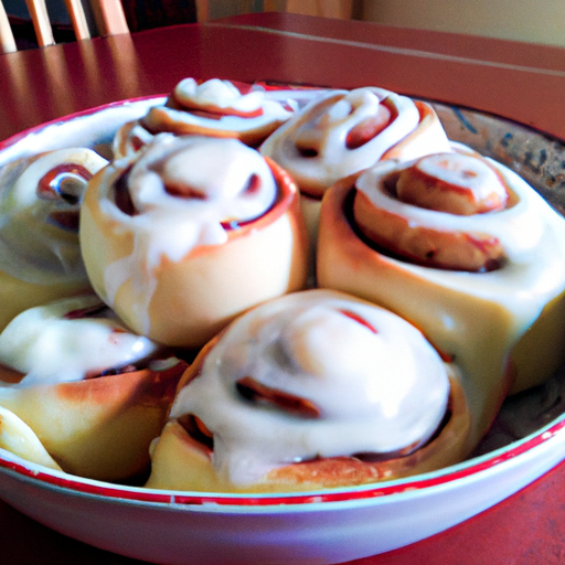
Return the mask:
<svg viewBox="0 0 565 565">
<path fill-rule="evenodd" d="M 565 50 L 365 22 L 250 14 L 0 55 L 0 143 L 25 128 L 181 78 L 355 87 L 493 113 L 565 139 Z M 354 562 L 565 562 L 565 465 L 497 507 L 408 547 Z M 126 565 L 0 502 L 2 562 Z"/>
</svg>

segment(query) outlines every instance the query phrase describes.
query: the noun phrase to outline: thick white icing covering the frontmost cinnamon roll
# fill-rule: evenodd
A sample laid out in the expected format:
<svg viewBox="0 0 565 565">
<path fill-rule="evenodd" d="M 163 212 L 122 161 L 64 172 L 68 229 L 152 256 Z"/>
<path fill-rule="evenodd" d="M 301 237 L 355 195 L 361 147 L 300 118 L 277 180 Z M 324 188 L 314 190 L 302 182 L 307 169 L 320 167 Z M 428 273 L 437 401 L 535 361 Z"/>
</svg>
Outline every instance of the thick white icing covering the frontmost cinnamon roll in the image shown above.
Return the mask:
<svg viewBox="0 0 565 565">
<path fill-rule="evenodd" d="M 236 383 L 245 377 L 308 401 L 319 416 L 244 398 Z M 317 456 L 413 449 L 436 430 L 448 395 L 446 365 L 417 329 L 347 295 L 309 290 L 237 319 L 171 416 L 198 416 L 214 436 L 217 473 L 248 483 Z"/>
</svg>

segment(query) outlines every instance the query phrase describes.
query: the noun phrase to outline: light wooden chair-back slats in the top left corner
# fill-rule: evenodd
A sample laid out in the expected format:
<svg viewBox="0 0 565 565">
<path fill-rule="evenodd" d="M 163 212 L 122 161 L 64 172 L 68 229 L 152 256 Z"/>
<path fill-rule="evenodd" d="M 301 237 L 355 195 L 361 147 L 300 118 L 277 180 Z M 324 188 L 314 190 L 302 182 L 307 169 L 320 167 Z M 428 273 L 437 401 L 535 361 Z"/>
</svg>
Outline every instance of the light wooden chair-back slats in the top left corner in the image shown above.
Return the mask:
<svg viewBox="0 0 565 565">
<path fill-rule="evenodd" d="M 45 0 L 25 0 L 40 47 L 54 45 L 53 29 Z M 98 35 L 129 33 L 120 0 L 90 0 Z M 90 39 L 85 10 L 81 0 L 65 0 L 71 24 L 77 40 Z M 17 51 L 17 44 L 6 9 L 0 0 L 0 53 Z"/>
</svg>

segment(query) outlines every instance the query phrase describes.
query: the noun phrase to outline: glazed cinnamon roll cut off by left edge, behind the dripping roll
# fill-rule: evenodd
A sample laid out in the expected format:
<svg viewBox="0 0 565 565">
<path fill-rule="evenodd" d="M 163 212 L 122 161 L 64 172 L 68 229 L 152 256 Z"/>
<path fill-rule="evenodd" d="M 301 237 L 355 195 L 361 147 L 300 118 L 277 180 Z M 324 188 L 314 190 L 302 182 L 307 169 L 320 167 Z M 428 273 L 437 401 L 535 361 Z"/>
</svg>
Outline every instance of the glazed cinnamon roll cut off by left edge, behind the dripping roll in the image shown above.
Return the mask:
<svg viewBox="0 0 565 565">
<path fill-rule="evenodd" d="M 86 148 L 22 158 L 0 171 L 0 331 L 18 313 L 90 289 L 78 246 L 86 184 L 107 161 Z"/>
</svg>

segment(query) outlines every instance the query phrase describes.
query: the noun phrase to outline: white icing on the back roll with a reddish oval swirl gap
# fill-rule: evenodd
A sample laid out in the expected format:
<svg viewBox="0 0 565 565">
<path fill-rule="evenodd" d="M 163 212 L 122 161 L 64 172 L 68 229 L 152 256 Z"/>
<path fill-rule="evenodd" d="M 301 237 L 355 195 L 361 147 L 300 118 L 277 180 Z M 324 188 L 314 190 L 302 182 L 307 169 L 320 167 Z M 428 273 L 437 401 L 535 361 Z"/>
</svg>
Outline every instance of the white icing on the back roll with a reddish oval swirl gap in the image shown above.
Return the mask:
<svg viewBox="0 0 565 565">
<path fill-rule="evenodd" d="M 350 131 L 382 106 L 392 113 L 391 122 L 365 143 L 349 149 Z M 417 107 L 405 96 L 376 87 L 332 90 L 295 114 L 267 138 L 260 151 L 295 175 L 300 188 L 324 189 L 374 164 L 416 129 L 418 121 Z M 316 154 L 303 157 L 301 149 Z"/>
</svg>

